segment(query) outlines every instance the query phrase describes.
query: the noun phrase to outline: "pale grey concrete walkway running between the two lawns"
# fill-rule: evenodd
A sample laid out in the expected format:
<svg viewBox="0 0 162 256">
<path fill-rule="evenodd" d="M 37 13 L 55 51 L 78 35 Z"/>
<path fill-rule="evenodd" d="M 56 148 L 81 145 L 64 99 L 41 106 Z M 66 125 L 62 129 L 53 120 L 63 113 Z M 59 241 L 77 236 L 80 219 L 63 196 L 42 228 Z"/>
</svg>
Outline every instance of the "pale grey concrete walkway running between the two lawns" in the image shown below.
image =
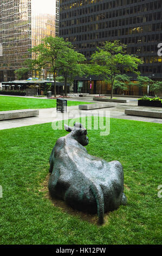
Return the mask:
<svg viewBox="0 0 162 256">
<path fill-rule="evenodd" d="M 79 98 L 79 99 L 78 99 Z M 124 99 L 124 97 L 122 97 Z M 127 98 L 128 99 L 128 98 Z M 69 100 L 69 99 L 68 99 Z M 89 97 L 75 97 L 75 99 L 70 100 L 77 100 L 77 101 L 89 101 L 89 102 L 98 102 L 99 101 L 93 101 Z M 12 119 L 12 120 L 4 120 L 0 121 L 0 130 L 3 129 L 10 129 L 14 127 L 21 127 L 21 126 L 28 126 L 28 125 L 35 125 L 35 124 L 44 124 L 44 123 L 51 123 L 54 121 L 62 120 L 62 119 L 69 119 L 69 118 L 77 118 L 80 117 L 80 115 L 83 116 L 90 116 L 90 115 L 106 115 L 110 114 L 111 118 L 120 118 L 120 119 L 127 119 L 127 120 L 138 120 L 138 121 L 146 121 L 150 123 L 159 123 L 162 124 L 162 119 L 158 118 L 147 118 L 147 117 L 137 117 L 133 115 L 125 115 L 125 109 L 126 108 L 138 108 L 138 102 L 137 99 L 130 99 L 129 103 L 114 103 L 109 102 L 109 105 L 112 107 L 109 108 L 102 108 L 102 109 L 93 109 L 89 111 L 81 110 L 79 111 L 78 106 L 70 106 L 68 107 L 67 113 L 56 113 L 56 108 L 41 108 L 39 109 L 40 115 L 38 117 L 30 117 L 30 118 L 20 118 L 20 119 Z M 150 107 L 144 107 L 145 109 L 150 109 Z M 151 107 L 152 109 L 152 107 Z M 159 108 L 154 108 L 158 109 Z"/>
</svg>

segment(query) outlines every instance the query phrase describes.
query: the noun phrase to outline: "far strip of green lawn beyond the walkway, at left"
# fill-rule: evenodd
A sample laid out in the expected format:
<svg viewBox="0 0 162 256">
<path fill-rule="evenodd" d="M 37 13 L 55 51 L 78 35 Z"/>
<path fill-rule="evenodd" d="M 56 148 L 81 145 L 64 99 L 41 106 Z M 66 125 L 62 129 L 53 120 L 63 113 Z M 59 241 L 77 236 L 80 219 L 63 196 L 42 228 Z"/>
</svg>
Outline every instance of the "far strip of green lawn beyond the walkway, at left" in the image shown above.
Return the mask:
<svg viewBox="0 0 162 256">
<path fill-rule="evenodd" d="M 89 102 L 68 101 L 68 106 L 88 104 Z M 16 109 L 36 109 L 56 107 L 56 100 L 32 99 L 23 97 L 0 96 L 0 111 Z"/>
</svg>

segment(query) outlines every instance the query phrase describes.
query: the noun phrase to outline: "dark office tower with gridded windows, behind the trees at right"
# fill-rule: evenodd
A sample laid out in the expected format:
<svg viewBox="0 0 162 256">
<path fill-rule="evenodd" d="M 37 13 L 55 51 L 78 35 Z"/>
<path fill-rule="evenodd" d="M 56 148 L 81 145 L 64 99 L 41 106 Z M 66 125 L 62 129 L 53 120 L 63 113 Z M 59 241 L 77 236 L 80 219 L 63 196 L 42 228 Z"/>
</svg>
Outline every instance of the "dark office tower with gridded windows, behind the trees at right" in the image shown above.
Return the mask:
<svg viewBox="0 0 162 256">
<path fill-rule="evenodd" d="M 60 0 L 60 36 L 88 59 L 105 41 L 120 40 L 128 54 L 144 61 L 139 66 L 141 75 L 162 79 L 162 57 L 157 53 L 162 42 L 161 0 Z M 88 92 L 89 83 L 75 81 L 75 92 Z M 93 93 L 99 93 L 99 84 L 92 79 Z M 109 93 L 106 84 L 102 87 L 102 93 Z M 127 93 L 138 95 L 139 88 L 133 88 Z"/>
</svg>

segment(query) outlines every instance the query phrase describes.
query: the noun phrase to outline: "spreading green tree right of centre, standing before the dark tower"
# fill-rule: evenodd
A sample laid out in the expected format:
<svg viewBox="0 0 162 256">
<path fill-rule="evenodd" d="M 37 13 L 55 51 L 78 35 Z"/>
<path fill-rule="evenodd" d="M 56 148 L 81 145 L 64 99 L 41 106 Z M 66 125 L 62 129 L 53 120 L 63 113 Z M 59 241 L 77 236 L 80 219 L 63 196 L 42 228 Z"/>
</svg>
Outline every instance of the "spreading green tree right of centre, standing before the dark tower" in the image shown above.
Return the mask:
<svg viewBox="0 0 162 256">
<path fill-rule="evenodd" d="M 133 55 L 125 54 L 126 45 L 120 44 L 119 41 L 105 42 L 103 48 L 92 54 L 91 56 L 91 74 L 102 76 L 102 80 L 111 83 L 111 99 L 113 97 L 113 89 L 115 85 L 116 75 L 124 71 L 131 71 L 139 74 L 138 64 L 142 61 Z"/>
</svg>

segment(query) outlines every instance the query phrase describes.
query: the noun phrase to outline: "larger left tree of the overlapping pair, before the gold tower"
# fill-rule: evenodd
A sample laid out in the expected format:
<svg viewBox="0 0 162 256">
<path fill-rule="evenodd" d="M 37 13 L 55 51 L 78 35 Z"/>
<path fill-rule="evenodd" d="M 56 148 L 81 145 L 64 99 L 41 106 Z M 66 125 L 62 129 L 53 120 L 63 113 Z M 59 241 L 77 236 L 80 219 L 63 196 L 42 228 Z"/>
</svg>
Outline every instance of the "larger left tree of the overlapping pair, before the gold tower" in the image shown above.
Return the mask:
<svg viewBox="0 0 162 256">
<path fill-rule="evenodd" d="M 54 95 L 56 97 L 56 72 L 62 68 L 63 63 L 61 59 L 70 43 L 57 36 L 55 38 L 53 36 L 46 36 L 42 41 L 42 44 L 34 46 L 29 50 L 33 54 L 33 59 L 29 60 L 29 64 L 33 69 L 41 70 L 44 68 L 53 72 Z"/>
</svg>

